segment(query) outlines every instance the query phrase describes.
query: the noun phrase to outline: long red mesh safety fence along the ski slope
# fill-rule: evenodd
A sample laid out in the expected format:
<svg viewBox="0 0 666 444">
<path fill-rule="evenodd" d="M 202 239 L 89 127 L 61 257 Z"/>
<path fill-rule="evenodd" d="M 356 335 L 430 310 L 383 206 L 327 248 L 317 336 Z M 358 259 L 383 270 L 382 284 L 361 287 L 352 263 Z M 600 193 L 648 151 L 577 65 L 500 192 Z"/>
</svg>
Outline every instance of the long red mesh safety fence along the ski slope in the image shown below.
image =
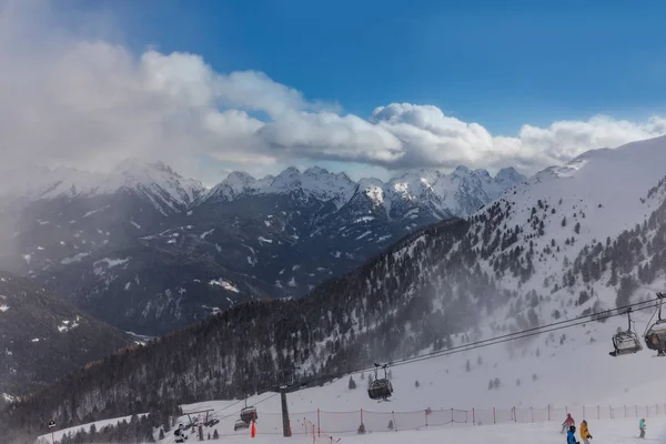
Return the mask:
<svg viewBox="0 0 666 444">
<path fill-rule="evenodd" d="M 292 435 L 313 437 L 313 443 L 334 444 L 341 435 L 410 431 L 443 426 L 488 426 L 493 424 L 554 423 L 562 424 L 571 414 L 576 425 L 583 420 L 613 421 L 625 418 L 649 418 L 666 416 L 666 403 L 652 405 L 578 405 L 555 407 L 492 407 L 492 408 L 445 408 L 421 410 L 413 412 L 373 412 L 356 410 L 349 412 L 330 412 L 316 410 L 290 414 Z M 258 435 L 282 435 L 281 413 L 258 412 Z M 249 434 L 248 430 L 234 431 L 238 417 L 222 417 L 215 428 L 220 436 Z"/>
</svg>

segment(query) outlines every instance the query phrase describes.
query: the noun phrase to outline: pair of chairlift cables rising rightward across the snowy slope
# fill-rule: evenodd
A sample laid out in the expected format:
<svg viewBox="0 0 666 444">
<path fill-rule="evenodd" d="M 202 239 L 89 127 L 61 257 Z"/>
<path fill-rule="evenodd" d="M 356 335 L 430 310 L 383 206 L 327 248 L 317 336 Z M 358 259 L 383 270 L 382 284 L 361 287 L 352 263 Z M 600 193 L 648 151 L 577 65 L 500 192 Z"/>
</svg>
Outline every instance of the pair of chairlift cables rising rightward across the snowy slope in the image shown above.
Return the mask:
<svg viewBox="0 0 666 444">
<path fill-rule="evenodd" d="M 458 346 L 443 350 L 443 351 L 431 352 L 431 353 L 422 354 L 418 356 L 404 357 L 402 360 L 391 362 L 389 364 L 389 366 L 405 365 L 405 364 L 410 364 L 413 362 L 424 361 L 426 359 L 446 356 L 446 355 L 454 354 L 454 353 L 481 349 L 481 347 L 488 346 L 488 345 L 502 344 L 505 342 L 515 341 L 515 340 L 523 339 L 523 337 L 535 336 L 535 335 L 543 334 L 543 333 L 549 333 L 549 332 L 557 331 L 557 330 L 569 329 L 569 327 L 585 324 L 587 322 L 594 322 L 594 321 L 599 321 L 599 320 L 607 320 L 607 319 L 615 317 L 615 316 L 622 316 L 625 314 L 625 311 L 629 307 L 632 307 L 635 311 L 647 310 L 647 309 L 654 307 L 655 305 L 653 303 L 657 302 L 657 301 L 659 301 L 658 297 L 647 300 L 647 301 L 642 301 L 642 302 L 635 302 L 633 304 L 627 304 L 627 305 L 619 306 L 616 309 L 609 309 L 605 313 L 602 312 L 602 313 L 586 314 L 583 316 L 573 317 L 571 320 L 553 322 L 551 324 L 541 325 L 541 326 L 536 326 L 536 327 L 532 327 L 532 329 L 526 329 L 526 330 L 522 330 L 519 332 L 507 333 L 507 334 L 504 334 L 501 336 L 495 336 L 495 337 L 491 337 L 487 340 L 476 341 L 476 342 L 473 342 L 470 344 L 458 345 Z M 615 313 L 613 313 L 613 312 L 615 312 Z M 553 329 L 553 327 L 555 327 L 555 329 Z M 546 330 L 546 329 L 549 329 L 549 330 Z M 325 377 L 326 379 L 339 379 L 339 377 L 343 377 L 343 376 L 346 376 L 350 374 L 360 373 L 360 372 L 369 372 L 369 371 L 373 371 L 373 370 L 374 370 L 374 366 L 359 369 L 355 371 L 342 372 L 342 373 L 333 374 L 333 375 L 330 374 L 330 375 L 326 375 Z"/>
</svg>

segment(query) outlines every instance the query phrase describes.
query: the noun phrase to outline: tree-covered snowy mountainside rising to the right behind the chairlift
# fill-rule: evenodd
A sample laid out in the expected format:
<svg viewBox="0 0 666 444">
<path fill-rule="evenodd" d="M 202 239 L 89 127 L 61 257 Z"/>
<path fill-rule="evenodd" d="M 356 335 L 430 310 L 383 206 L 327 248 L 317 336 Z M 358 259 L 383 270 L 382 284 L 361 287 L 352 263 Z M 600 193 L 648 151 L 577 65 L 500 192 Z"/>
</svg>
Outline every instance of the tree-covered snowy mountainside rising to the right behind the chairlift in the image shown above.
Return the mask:
<svg viewBox="0 0 666 444">
<path fill-rule="evenodd" d="M 666 138 L 588 152 L 507 190 L 470 218 L 414 232 L 361 268 L 319 285 L 309 297 L 236 305 L 64 379 L 49 393 L 17 404 L 8 421 L 29 424 L 52 414 L 75 424 L 91 414 L 100 418 L 127 414 L 130 405 L 147 411 L 164 400 L 239 397 L 265 392 L 285 369 L 325 381 L 373 362 L 442 351 L 650 299 L 662 290 L 666 271 L 664 161 Z M 643 325 L 647 322 L 637 319 Z M 581 354 L 544 367 L 562 390 L 545 396 L 552 398 L 548 402 L 556 395 L 566 402 L 564 395 L 571 393 L 601 397 L 604 381 L 649 380 L 654 373 L 636 376 L 638 370 L 653 372 L 647 362 L 658 365 L 649 352 L 633 356 L 643 364 L 625 376 L 620 369 L 626 373 L 635 365 L 628 363 L 638 361 L 612 361 L 619 364 L 585 371 L 589 356 L 610 359 L 609 334 L 626 322 L 617 320 L 591 322 L 582 329 L 585 333 L 553 334 L 539 337 L 539 343 L 509 347 L 497 357 L 497 367 L 501 360 L 513 362 L 524 354 L 535 360 L 524 369 L 536 367 L 547 362 L 552 347 L 579 350 Z M 594 345 L 603 341 L 607 343 L 603 347 Z M 587 346 L 595 349 L 583 349 Z M 471 365 L 474 359 L 470 357 Z M 468 386 L 468 402 L 481 402 L 488 386 L 497 385 L 495 362 L 492 370 L 488 364 L 486 357 L 478 364 L 485 369 L 484 377 L 474 379 L 477 389 Z M 572 382 L 575 377 L 566 364 L 587 385 Z M 534 376 L 523 373 L 516 380 L 528 386 L 525 379 Z M 500 386 L 518 385 L 506 377 Z M 99 384 L 107 387 L 103 401 Z M 599 389 L 593 392 L 591 386 Z M 448 392 L 433 393 L 442 397 Z M 525 387 L 515 393 L 536 392 Z M 463 401 L 455 397 L 458 405 Z"/>
</svg>

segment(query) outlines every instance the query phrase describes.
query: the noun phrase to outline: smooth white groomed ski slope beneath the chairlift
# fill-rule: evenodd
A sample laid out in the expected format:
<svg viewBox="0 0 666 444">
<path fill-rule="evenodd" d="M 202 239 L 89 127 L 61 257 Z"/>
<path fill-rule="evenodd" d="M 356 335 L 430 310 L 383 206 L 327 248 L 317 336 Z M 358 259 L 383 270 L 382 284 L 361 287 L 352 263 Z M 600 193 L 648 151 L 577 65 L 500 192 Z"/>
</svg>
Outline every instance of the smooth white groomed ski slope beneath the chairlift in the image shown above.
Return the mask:
<svg viewBox="0 0 666 444">
<path fill-rule="evenodd" d="M 650 315 L 650 312 L 636 313 L 638 330 Z M 291 393 L 287 395 L 294 434 L 291 438 L 281 436 L 280 396 L 262 393 L 248 400 L 248 405 L 255 405 L 259 413 L 258 436 L 251 442 L 312 442 L 312 437 L 304 436 L 304 420 L 317 424 L 319 408 L 321 431 L 341 438 L 341 443 L 563 444 L 565 436 L 559 434 L 559 424 L 568 411 L 577 425 L 584 417 L 588 421 L 593 443 L 638 442 L 638 418 L 645 417 L 648 424 L 645 441 L 666 444 L 666 438 L 662 440 L 666 428 L 666 359 L 654 357 L 655 353 L 647 350 L 610 357 L 609 337 L 625 322 L 615 317 L 604 324 L 595 322 L 564 330 L 562 333 L 567 337 L 562 344 L 561 332 L 555 341 L 545 334 L 524 344 L 515 343 L 513 357 L 507 345 L 502 344 L 394 366 L 392 402 L 376 403 L 367 397 L 367 372 L 363 379 L 361 374 L 353 375 L 355 390 L 349 389 L 347 376 L 322 387 Z M 495 377 L 500 386 L 488 389 Z M 233 431 L 243 405 L 239 400 L 210 401 L 182 408 L 212 410 L 220 423 L 204 427 L 204 437 L 216 430 L 219 442 L 240 443 L 251 440 L 248 430 Z M 428 407 L 432 413 L 426 415 Z M 361 410 L 365 435 L 356 433 Z M 397 432 L 389 430 L 391 421 Z M 97 423 L 97 428 L 109 423 L 112 421 Z M 188 424 L 189 420 L 183 416 L 178 423 Z M 90 424 L 82 427 L 89 428 Z M 57 432 L 56 438 L 61 435 L 62 431 Z M 189 440 L 195 441 L 194 436 Z M 326 441 L 320 437 L 317 442 Z M 161 443 L 173 443 L 173 428 Z"/>
</svg>

